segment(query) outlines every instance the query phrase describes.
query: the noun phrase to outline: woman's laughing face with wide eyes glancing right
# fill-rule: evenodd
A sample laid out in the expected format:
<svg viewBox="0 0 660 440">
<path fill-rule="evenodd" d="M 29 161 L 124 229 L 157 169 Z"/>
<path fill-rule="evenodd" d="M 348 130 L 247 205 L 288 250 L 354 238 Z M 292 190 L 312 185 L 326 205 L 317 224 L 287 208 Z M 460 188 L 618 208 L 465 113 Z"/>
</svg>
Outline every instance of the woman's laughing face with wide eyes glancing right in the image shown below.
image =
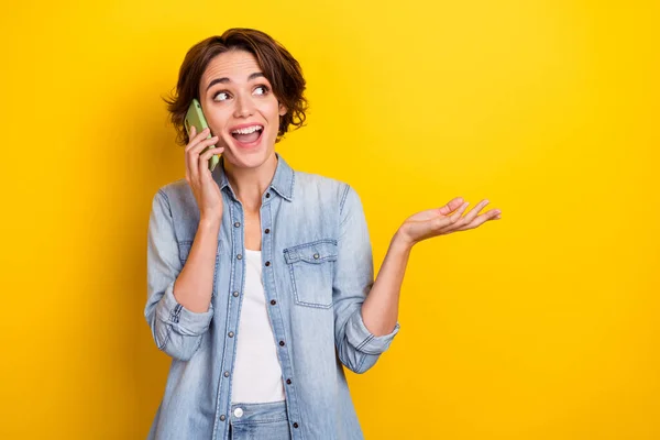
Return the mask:
<svg viewBox="0 0 660 440">
<path fill-rule="evenodd" d="M 211 133 L 224 146 L 224 161 L 255 168 L 273 157 L 279 117 L 286 114 L 255 57 L 244 51 L 216 56 L 199 82 Z"/>
</svg>

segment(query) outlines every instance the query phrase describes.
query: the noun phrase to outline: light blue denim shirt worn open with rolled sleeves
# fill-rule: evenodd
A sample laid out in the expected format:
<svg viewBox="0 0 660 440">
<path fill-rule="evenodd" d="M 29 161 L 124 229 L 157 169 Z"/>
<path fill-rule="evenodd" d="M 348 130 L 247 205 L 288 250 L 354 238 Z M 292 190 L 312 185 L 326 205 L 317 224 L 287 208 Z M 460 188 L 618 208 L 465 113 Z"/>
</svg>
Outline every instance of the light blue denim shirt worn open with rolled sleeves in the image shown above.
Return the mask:
<svg viewBox="0 0 660 440">
<path fill-rule="evenodd" d="M 371 369 L 399 330 L 376 337 L 362 320 L 374 283 L 360 197 L 339 180 L 295 172 L 277 155 L 262 195 L 262 282 L 282 366 L 293 439 L 362 439 L 343 367 Z M 239 317 L 245 285 L 244 213 L 221 162 L 223 201 L 208 311 L 177 302 L 174 282 L 199 223 L 188 183 L 153 198 L 144 315 L 156 346 L 172 356 L 148 439 L 228 439 Z"/>
</svg>

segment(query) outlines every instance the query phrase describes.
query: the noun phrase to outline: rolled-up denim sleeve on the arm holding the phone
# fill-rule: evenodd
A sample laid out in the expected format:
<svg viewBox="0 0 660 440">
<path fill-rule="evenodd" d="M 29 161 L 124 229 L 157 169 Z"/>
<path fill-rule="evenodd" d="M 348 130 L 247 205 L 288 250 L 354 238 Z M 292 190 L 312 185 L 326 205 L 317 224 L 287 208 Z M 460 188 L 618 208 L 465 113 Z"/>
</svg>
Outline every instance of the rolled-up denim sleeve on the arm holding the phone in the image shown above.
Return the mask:
<svg viewBox="0 0 660 440">
<path fill-rule="evenodd" d="M 148 220 L 144 316 L 156 346 L 174 359 L 187 361 L 209 329 L 213 308 L 194 312 L 176 300 L 174 283 L 182 270 L 169 201 L 161 189 L 153 198 Z"/>
</svg>

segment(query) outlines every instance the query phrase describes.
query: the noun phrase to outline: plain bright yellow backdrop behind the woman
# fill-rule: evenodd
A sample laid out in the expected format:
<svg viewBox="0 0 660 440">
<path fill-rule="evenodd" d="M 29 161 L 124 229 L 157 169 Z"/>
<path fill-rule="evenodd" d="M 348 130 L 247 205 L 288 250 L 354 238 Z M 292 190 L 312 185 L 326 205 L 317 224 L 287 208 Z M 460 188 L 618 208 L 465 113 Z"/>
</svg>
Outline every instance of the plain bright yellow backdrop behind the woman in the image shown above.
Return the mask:
<svg viewBox="0 0 660 440">
<path fill-rule="evenodd" d="M 20 1 L 0 16 L 0 438 L 141 439 L 146 227 L 184 177 L 161 96 L 263 30 L 308 125 L 277 151 L 353 185 L 376 268 L 455 196 L 503 219 L 413 251 L 400 333 L 349 373 L 367 439 L 660 438 L 657 1 Z"/>
</svg>

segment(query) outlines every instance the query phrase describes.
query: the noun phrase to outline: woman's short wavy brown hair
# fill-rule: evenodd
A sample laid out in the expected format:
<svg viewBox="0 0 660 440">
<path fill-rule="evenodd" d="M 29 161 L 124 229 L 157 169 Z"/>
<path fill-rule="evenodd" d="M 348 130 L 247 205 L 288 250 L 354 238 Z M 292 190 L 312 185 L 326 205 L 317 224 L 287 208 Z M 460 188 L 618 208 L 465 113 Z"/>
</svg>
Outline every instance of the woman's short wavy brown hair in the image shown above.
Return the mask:
<svg viewBox="0 0 660 440">
<path fill-rule="evenodd" d="M 169 120 L 177 132 L 177 144 L 186 145 L 189 142 L 184 119 L 193 99 L 199 100 L 199 81 L 206 67 L 216 56 L 237 50 L 254 55 L 264 76 L 273 86 L 273 94 L 287 109 L 286 114 L 279 119 L 275 142 L 282 140 L 290 125 L 295 129 L 304 125 L 308 102 L 302 96 L 306 82 L 298 62 L 266 33 L 254 29 L 234 28 L 224 31 L 220 36 L 210 36 L 190 47 L 179 68 L 176 94 L 163 98 L 167 103 Z"/>
</svg>

